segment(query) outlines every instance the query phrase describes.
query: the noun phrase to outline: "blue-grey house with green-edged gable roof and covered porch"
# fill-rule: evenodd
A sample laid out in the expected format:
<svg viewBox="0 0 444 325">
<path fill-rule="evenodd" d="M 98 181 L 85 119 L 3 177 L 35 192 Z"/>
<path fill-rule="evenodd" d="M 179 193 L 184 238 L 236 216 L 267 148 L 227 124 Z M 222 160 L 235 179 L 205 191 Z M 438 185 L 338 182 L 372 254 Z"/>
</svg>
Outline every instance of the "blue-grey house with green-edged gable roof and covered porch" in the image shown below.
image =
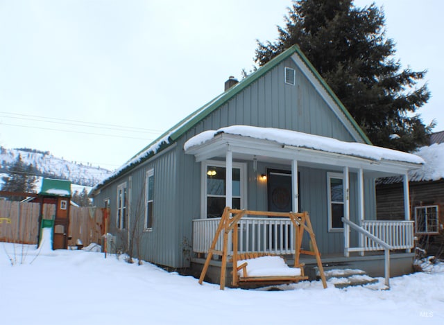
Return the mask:
<svg viewBox="0 0 444 325">
<path fill-rule="evenodd" d="M 165 267 L 200 270 L 227 206 L 308 211 L 324 262 L 361 261 L 374 274 L 384 272 L 384 258 L 362 255 L 381 247 L 350 233 L 350 227 L 381 238 L 400 233 L 384 240 L 399 250 L 391 258 L 392 274 L 402 274 L 411 271 L 413 258 L 407 252 L 413 247 L 409 195 L 403 220 L 379 222 L 375 178 L 400 175 L 409 193 L 407 173 L 422 162 L 372 146 L 293 46 L 241 82 L 230 78 L 223 94 L 129 159 L 90 195 L 96 206 L 110 208 L 109 232 L 117 247 Z M 239 252 L 294 252 L 286 221 L 252 216 L 245 222 Z M 311 243 L 304 238 L 302 245 L 309 249 Z"/>
</svg>

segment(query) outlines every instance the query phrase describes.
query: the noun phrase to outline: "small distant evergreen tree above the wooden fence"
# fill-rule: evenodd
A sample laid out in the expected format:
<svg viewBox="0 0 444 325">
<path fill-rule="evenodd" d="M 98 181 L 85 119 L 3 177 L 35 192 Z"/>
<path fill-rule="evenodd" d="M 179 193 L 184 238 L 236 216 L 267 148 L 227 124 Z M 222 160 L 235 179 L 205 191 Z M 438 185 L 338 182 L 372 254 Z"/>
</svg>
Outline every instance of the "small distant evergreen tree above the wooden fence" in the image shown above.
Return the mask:
<svg viewBox="0 0 444 325">
<path fill-rule="evenodd" d="M 33 166 L 26 166 L 19 155 L 8 168 L 8 175 L 3 177 L 2 191 L 34 193 L 36 177 L 33 175 Z M 10 197 L 10 200 L 23 200 L 23 196 Z"/>
</svg>

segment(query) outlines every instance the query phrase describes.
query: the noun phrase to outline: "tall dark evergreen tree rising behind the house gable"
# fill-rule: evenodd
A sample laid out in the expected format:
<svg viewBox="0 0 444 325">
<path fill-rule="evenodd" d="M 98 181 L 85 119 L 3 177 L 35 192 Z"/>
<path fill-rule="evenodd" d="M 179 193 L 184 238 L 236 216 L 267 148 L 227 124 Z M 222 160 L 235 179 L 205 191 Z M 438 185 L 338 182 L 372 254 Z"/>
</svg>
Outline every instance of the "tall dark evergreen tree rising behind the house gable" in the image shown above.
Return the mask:
<svg viewBox="0 0 444 325">
<path fill-rule="evenodd" d="M 416 114 L 430 96 L 427 84 L 417 85 L 426 71 L 401 69 L 375 3 L 293 0 L 285 18 L 275 42 L 257 41 L 257 64 L 298 44 L 375 146 L 411 151 L 428 144 L 435 122 L 426 126 Z"/>
</svg>

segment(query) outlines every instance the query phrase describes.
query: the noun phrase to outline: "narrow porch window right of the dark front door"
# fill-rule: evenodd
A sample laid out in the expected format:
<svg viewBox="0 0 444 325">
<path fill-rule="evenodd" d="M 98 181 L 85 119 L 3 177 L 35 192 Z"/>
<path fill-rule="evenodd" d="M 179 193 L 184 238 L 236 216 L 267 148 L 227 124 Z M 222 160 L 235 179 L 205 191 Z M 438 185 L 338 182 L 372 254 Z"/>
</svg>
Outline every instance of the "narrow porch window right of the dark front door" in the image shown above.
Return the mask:
<svg viewBox="0 0 444 325">
<path fill-rule="evenodd" d="M 327 173 L 328 230 L 341 230 L 344 225 L 344 180 L 342 174 Z"/>
</svg>

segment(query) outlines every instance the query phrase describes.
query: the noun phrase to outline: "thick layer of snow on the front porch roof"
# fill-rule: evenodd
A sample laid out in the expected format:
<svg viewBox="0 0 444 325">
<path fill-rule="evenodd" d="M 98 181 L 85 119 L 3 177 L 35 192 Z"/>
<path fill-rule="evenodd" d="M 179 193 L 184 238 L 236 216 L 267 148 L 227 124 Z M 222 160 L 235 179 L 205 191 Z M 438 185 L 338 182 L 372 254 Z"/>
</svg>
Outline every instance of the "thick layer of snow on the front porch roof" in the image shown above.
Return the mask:
<svg viewBox="0 0 444 325">
<path fill-rule="evenodd" d="M 321 137 L 314 134 L 307 134 L 291 130 L 275 128 L 258 128 L 247 125 L 234 125 L 219 130 L 205 131 L 189 139 L 184 146 L 187 150 L 193 146 L 198 146 L 213 139 L 217 134 L 236 134 L 254 139 L 264 139 L 275 141 L 287 146 L 298 148 L 309 148 L 325 152 L 334 152 L 342 155 L 362 157 L 367 159 L 404 161 L 413 164 L 423 164 L 424 160 L 417 155 L 407 152 L 370 146 L 364 143 L 345 142 L 337 139 Z"/>
</svg>

